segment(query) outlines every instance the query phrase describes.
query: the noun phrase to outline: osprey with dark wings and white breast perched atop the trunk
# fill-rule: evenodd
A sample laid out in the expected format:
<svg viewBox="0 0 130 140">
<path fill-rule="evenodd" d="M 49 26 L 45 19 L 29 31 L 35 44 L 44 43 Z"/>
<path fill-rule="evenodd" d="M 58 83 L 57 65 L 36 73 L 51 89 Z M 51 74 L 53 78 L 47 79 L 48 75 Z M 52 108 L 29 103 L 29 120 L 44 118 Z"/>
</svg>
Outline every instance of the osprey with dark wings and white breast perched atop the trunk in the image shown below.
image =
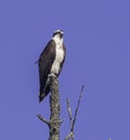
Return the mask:
<svg viewBox="0 0 130 140">
<path fill-rule="evenodd" d="M 41 52 L 38 66 L 39 66 L 39 81 L 40 94 L 39 102 L 50 92 L 50 75 L 58 77 L 65 61 L 66 49 L 63 43 L 63 30 L 53 33 L 52 39 L 48 42 L 44 50 Z"/>
</svg>

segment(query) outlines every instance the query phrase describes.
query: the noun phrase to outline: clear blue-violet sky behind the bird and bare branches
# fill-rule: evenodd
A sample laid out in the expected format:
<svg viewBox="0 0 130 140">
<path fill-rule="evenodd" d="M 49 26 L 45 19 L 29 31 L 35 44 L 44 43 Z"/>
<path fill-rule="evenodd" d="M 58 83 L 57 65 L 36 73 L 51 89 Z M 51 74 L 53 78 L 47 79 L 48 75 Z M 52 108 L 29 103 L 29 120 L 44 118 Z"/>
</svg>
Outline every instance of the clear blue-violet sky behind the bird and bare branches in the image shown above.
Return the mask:
<svg viewBox="0 0 130 140">
<path fill-rule="evenodd" d="M 56 29 L 65 30 L 67 58 L 60 76 L 61 139 L 82 102 L 75 140 L 130 140 L 129 0 L 0 1 L 0 140 L 46 140 L 49 97 L 38 103 L 35 61 Z"/>
</svg>

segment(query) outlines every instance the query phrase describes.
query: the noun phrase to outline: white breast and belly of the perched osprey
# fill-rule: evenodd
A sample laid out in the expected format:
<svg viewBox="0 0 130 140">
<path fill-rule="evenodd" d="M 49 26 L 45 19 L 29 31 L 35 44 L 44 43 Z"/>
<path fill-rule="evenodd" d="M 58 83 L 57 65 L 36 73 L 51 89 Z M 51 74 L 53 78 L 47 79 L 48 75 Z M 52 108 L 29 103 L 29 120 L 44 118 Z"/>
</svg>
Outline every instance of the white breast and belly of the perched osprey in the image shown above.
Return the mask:
<svg viewBox="0 0 130 140">
<path fill-rule="evenodd" d="M 63 40 L 62 41 L 55 41 L 56 47 L 55 47 L 55 60 L 52 64 L 51 73 L 58 74 L 61 66 L 60 64 L 64 60 L 64 50 L 63 50 Z"/>
</svg>

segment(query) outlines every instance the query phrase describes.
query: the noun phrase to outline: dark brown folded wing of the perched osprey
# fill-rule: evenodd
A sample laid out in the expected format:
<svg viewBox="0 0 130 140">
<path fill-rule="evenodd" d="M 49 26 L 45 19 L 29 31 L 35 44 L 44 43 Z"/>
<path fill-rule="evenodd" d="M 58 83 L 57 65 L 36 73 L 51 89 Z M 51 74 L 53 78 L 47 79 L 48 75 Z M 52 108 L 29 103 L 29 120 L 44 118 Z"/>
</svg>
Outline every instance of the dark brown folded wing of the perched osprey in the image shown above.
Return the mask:
<svg viewBox="0 0 130 140">
<path fill-rule="evenodd" d="M 39 80 L 40 80 L 40 97 L 47 96 L 50 91 L 44 94 L 44 87 L 47 84 L 48 75 L 51 71 L 52 63 L 55 59 L 55 42 L 51 40 L 44 50 L 41 52 L 38 65 L 39 65 Z M 40 98 L 42 100 L 42 98 Z"/>
</svg>

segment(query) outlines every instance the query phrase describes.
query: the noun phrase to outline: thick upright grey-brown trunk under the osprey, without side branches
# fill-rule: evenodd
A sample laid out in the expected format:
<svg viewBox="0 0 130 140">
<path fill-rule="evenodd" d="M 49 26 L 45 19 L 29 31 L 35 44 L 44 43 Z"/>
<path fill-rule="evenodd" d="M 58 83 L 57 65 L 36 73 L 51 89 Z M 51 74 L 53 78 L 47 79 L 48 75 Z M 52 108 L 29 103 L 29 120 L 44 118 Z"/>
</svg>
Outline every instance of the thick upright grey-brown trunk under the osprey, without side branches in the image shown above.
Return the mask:
<svg viewBox="0 0 130 140">
<path fill-rule="evenodd" d="M 50 76 L 50 138 L 49 140 L 60 140 L 60 92 L 58 80 L 55 76 Z"/>
</svg>

